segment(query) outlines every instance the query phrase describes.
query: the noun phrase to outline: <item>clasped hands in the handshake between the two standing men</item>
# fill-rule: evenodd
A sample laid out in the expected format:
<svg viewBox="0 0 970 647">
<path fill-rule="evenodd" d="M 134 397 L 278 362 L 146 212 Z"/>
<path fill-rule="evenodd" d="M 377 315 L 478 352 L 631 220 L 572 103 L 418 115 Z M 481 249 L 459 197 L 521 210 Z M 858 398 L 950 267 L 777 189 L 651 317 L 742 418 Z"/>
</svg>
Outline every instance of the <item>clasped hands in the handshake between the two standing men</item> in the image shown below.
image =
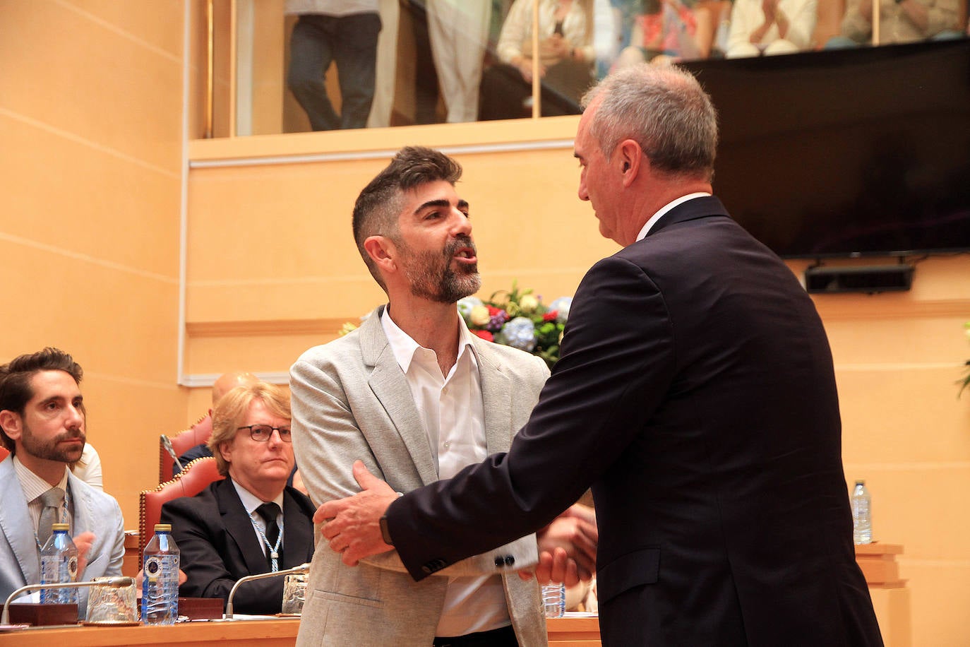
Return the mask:
<svg viewBox="0 0 970 647">
<path fill-rule="evenodd" d="M 523 579 L 533 575 L 539 583 L 565 582 L 574 586 L 588 582 L 597 569 L 599 532 L 593 508 L 576 503 L 535 534 L 539 563 L 533 571 L 520 571 Z"/>
</svg>

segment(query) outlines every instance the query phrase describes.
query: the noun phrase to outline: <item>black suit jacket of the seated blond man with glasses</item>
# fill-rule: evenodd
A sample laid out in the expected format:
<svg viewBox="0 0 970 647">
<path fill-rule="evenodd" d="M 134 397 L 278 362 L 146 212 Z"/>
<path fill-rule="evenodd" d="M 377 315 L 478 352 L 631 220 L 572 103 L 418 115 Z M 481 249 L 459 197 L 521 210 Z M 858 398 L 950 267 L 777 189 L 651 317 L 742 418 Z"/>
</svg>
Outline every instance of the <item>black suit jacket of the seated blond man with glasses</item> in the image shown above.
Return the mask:
<svg viewBox="0 0 970 647">
<path fill-rule="evenodd" d="M 283 564 L 300 566 L 313 558 L 313 504 L 306 495 L 283 491 Z M 184 598 L 229 598 L 236 580 L 270 570 L 249 515 L 232 479 L 215 481 L 194 497 L 162 505 L 162 523 L 172 524 L 188 580 Z M 237 613 L 273 614 L 282 608 L 283 576 L 242 584 L 233 597 Z"/>
</svg>

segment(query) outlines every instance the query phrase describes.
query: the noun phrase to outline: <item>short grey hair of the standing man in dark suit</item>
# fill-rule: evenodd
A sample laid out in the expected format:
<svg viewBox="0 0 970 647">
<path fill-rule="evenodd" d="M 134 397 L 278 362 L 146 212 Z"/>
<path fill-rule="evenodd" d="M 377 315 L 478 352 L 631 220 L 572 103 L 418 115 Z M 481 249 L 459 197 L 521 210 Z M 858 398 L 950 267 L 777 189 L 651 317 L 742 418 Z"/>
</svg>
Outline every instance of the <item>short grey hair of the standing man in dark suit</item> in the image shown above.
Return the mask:
<svg viewBox="0 0 970 647">
<path fill-rule="evenodd" d="M 583 97 L 599 101 L 590 134 L 606 157 L 633 140 L 653 168 L 670 175 L 714 176 L 717 111 L 694 76 L 677 66 L 631 66 L 609 75 Z"/>
</svg>

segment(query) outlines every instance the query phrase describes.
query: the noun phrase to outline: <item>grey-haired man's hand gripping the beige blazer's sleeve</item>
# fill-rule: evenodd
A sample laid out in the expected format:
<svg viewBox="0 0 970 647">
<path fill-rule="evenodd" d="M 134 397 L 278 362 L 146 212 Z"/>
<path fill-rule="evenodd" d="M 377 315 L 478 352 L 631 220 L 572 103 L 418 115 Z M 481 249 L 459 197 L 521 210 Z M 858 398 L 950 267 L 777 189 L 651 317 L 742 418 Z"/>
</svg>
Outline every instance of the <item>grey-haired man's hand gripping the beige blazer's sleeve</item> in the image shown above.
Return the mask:
<svg viewBox="0 0 970 647">
<path fill-rule="evenodd" d="M 357 566 L 366 557 L 393 550 L 384 542 L 380 518 L 398 498 L 398 493 L 361 461 L 354 461 L 353 472 L 361 491 L 346 499 L 326 501 L 313 515 L 313 523 L 323 523 L 320 533 L 347 566 Z"/>
</svg>

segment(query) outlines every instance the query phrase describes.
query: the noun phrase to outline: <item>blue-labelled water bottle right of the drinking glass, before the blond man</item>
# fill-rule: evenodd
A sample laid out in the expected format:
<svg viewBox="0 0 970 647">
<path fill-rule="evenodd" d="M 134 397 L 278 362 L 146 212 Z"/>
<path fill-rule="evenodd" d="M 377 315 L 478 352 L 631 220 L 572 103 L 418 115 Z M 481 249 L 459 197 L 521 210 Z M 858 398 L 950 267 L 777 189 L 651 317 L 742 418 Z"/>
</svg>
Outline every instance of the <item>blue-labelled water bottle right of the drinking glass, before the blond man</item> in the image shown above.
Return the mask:
<svg viewBox="0 0 970 647">
<path fill-rule="evenodd" d="M 156 524 L 145 547 L 142 622 L 174 625 L 178 620 L 178 546 L 171 524 Z"/>
</svg>

